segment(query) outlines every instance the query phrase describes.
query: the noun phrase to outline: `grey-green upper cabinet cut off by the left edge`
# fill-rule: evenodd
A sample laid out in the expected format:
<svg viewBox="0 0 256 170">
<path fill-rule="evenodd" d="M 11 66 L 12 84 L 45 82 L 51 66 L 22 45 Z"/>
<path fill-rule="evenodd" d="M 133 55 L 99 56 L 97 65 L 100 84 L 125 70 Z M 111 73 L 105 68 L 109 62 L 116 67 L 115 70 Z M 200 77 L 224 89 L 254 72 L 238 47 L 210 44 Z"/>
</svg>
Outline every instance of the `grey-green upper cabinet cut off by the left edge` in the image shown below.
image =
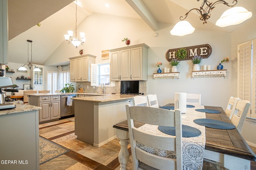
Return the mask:
<svg viewBox="0 0 256 170">
<path fill-rule="evenodd" d="M 0 0 L 0 64 L 8 63 L 8 1 Z"/>
</svg>

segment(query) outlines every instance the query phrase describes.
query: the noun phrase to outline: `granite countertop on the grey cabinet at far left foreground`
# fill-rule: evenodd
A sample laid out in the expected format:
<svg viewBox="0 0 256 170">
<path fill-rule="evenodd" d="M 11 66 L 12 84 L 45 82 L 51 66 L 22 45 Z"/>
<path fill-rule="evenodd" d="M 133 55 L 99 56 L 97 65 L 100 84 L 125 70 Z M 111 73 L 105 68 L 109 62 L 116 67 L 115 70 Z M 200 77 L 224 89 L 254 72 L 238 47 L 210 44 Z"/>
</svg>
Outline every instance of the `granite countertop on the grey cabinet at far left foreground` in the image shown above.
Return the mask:
<svg viewBox="0 0 256 170">
<path fill-rule="evenodd" d="M 0 115 L 7 115 L 7 114 L 12 114 L 12 113 L 21 113 L 21 112 L 26 112 L 26 111 L 40 110 L 40 109 L 41 109 L 41 107 L 38 107 L 38 106 L 16 103 L 16 108 L 0 110 Z"/>
</svg>

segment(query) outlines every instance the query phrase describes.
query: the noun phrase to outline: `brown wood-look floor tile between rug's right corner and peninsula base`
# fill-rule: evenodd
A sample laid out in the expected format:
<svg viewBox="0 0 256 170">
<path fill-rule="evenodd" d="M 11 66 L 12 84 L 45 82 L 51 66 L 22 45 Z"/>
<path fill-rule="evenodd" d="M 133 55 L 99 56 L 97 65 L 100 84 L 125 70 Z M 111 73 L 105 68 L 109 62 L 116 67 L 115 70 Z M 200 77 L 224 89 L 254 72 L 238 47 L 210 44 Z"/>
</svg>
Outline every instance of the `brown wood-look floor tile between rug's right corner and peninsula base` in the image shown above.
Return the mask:
<svg viewBox="0 0 256 170">
<path fill-rule="evenodd" d="M 62 142 L 60 142 L 58 144 L 63 146 L 63 147 L 66 147 L 66 148 L 68 148 L 70 150 L 73 150 L 75 152 L 90 146 L 90 144 L 85 143 L 83 141 L 80 141 L 80 140 L 78 140 L 78 139 L 76 139 L 74 137 L 72 139 L 69 139 L 69 140 L 66 140 L 66 141 L 62 141 Z"/>
</svg>

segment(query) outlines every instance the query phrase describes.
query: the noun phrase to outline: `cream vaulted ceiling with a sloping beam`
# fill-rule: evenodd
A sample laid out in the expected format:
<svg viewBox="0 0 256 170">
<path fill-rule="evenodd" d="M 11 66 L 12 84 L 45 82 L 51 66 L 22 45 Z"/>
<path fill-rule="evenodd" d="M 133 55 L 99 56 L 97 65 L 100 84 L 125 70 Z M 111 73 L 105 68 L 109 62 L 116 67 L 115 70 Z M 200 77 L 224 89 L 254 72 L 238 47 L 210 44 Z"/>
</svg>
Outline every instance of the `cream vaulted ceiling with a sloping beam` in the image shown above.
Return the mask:
<svg viewBox="0 0 256 170">
<path fill-rule="evenodd" d="M 64 41 L 67 30 L 74 30 L 75 3 L 73 0 L 8 0 L 9 62 L 26 63 L 28 55 L 27 39 L 33 41 L 33 63 L 44 61 Z M 209 0 L 211 1 L 211 0 Z M 216 0 L 214 0 L 215 2 Z M 233 0 L 226 0 L 232 4 Z M 153 31 L 170 27 L 180 16 L 192 8 L 199 8 L 202 0 L 78 0 L 78 25 L 93 13 L 141 18 Z M 105 6 L 109 4 L 109 8 Z M 256 16 L 256 0 L 238 0 L 236 6 L 243 6 Z M 202 24 L 196 11 L 190 12 L 187 20 L 194 27 L 232 32 L 239 25 L 218 27 L 215 25 L 220 15 L 228 7 L 218 4 L 211 12 L 207 24 Z M 36 24 L 41 23 L 38 27 Z M 195 26 L 196 25 L 196 26 Z"/>
</svg>

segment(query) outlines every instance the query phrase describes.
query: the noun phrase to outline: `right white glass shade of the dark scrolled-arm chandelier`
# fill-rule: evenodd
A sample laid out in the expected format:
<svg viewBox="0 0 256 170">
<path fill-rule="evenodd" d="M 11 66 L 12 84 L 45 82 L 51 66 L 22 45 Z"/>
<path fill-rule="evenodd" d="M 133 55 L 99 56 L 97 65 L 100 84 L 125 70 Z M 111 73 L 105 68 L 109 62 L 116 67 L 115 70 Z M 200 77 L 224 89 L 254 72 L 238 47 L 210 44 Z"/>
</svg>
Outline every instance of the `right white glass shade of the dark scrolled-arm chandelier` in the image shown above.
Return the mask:
<svg viewBox="0 0 256 170">
<path fill-rule="evenodd" d="M 226 10 L 215 25 L 219 27 L 226 27 L 229 25 L 237 25 L 252 17 L 252 12 L 249 12 L 241 6 L 233 7 Z"/>
</svg>

